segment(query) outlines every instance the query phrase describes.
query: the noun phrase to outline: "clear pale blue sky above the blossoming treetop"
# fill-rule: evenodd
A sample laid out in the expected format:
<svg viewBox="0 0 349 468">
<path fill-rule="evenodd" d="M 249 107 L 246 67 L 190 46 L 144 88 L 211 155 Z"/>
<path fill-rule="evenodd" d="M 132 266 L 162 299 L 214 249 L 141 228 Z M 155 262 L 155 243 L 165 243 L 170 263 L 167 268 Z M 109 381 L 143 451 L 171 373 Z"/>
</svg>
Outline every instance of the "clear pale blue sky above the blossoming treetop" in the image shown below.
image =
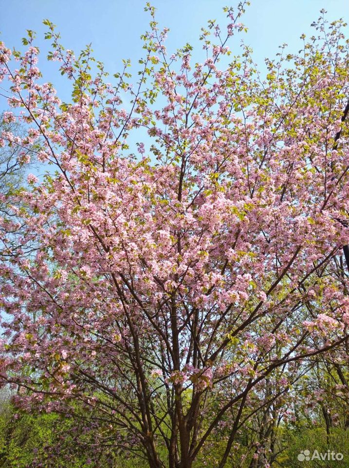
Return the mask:
<svg viewBox="0 0 349 468">
<path fill-rule="evenodd" d="M 62 43 L 75 52 L 92 42 L 94 56 L 103 61 L 112 76 L 121 70 L 121 59 L 134 63 L 142 56 L 140 35 L 147 29 L 148 14 L 144 0 L 0 0 L 0 39 L 10 48 L 19 48 L 26 29 L 37 32 L 36 45 L 45 52 L 49 43 L 43 39 L 48 18 L 61 32 Z M 186 42 L 196 46 L 194 57 L 201 60 L 202 43 L 198 40 L 200 28 L 208 19 L 221 20 L 222 7 L 236 5 L 238 0 L 153 0 L 161 26 L 170 28 L 167 50 L 171 54 Z M 330 20 L 349 20 L 348 0 L 252 0 L 243 22 L 249 28 L 242 35 L 254 49 L 257 63 L 263 67 L 264 58 L 272 58 L 278 45 L 286 42 L 292 52 L 301 47 L 299 36 L 312 34 L 310 24 L 326 8 Z M 233 53 L 239 53 L 239 42 L 230 44 Z M 234 50 L 234 48 L 236 50 Z M 197 55 L 198 54 L 198 55 Z M 68 98 L 67 81 L 57 78 L 56 64 L 39 67 L 45 81 L 52 81 L 58 95 Z M 63 95 L 63 96 L 62 96 Z"/>
</svg>

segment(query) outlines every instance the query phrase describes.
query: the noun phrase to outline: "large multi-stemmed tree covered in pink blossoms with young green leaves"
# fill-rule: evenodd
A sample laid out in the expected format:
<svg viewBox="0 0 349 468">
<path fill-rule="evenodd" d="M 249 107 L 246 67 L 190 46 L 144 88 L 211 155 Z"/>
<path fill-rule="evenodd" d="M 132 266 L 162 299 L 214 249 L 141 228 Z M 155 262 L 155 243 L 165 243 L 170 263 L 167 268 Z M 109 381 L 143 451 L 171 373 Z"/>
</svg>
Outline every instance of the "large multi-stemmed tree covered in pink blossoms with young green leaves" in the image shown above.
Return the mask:
<svg viewBox="0 0 349 468">
<path fill-rule="evenodd" d="M 0 43 L 5 119 L 27 128 L 2 144 L 45 173 L 0 222 L 1 381 L 20 409 L 70 418 L 94 466 L 106 447 L 151 468 L 268 466 L 260 445 L 239 451 L 241 429 L 292 417 L 314 361 L 348 350 L 344 23 L 322 12 L 263 77 L 228 48 L 245 3 L 202 29 L 203 63 L 166 53 L 147 5 L 133 85 L 128 61 L 110 84 L 46 20 L 71 102 L 31 31 L 25 53 Z"/>
</svg>

